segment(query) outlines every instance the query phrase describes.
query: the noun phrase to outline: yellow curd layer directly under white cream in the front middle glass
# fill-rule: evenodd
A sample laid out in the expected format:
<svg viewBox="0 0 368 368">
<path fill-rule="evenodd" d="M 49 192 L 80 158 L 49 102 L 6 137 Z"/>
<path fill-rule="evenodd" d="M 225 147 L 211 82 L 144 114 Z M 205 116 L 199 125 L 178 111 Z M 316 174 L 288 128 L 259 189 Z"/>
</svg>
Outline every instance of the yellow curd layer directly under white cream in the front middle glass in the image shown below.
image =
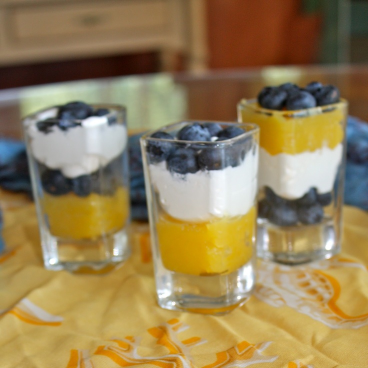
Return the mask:
<svg viewBox="0 0 368 368">
<path fill-rule="evenodd" d="M 184 222 L 161 213 L 156 223 L 163 265 L 192 275 L 235 271 L 252 256 L 255 208 L 241 216 Z"/>
</svg>

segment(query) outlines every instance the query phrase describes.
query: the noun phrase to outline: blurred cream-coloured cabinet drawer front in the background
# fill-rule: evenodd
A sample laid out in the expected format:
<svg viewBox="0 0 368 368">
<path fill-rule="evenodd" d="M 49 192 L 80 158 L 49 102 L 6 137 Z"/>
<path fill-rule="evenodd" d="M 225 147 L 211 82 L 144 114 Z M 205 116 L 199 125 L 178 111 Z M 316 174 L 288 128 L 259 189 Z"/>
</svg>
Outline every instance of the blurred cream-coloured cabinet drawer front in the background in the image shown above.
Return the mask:
<svg viewBox="0 0 368 368">
<path fill-rule="evenodd" d="M 164 28 L 167 0 L 85 1 L 37 4 L 8 9 L 11 37 L 18 41 L 99 32 Z"/>
</svg>

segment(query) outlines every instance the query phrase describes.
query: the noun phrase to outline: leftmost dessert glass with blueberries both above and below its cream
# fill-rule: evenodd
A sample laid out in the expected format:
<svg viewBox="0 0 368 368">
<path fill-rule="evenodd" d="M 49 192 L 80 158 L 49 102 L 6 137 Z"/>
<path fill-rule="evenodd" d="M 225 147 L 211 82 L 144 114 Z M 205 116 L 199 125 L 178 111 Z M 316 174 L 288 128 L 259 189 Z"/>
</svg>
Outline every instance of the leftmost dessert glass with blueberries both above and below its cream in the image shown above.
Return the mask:
<svg viewBox="0 0 368 368">
<path fill-rule="evenodd" d="M 120 264 L 130 253 L 125 109 L 74 101 L 22 125 L 45 267 L 99 273 Z"/>
</svg>

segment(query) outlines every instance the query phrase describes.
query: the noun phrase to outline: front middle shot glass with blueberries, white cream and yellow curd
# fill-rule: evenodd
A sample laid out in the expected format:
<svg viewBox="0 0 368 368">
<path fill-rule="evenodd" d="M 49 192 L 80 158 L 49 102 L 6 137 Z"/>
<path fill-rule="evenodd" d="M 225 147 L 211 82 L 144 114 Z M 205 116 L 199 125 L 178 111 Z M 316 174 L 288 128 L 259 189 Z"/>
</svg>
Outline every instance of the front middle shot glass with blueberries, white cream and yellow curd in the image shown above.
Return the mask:
<svg viewBox="0 0 368 368">
<path fill-rule="evenodd" d="M 223 314 L 250 296 L 258 130 L 254 124 L 180 121 L 141 137 L 161 307 Z"/>
</svg>

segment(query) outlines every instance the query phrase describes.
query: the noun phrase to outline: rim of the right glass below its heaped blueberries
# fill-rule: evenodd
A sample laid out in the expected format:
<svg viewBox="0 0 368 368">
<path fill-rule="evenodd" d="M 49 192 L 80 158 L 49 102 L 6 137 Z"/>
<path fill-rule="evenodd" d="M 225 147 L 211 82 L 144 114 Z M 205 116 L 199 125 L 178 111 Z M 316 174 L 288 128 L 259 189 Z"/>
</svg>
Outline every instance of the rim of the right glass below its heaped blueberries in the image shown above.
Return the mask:
<svg viewBox="0 0 368 368">
<path fill-rule="evenodd" d="M 262 112 L 265 115 L 283 115 L 283 116 L 309 116 L 309 115 L 318 115 L 320 113 L 333 111 L 337 108 L 347 107 L 348 101 L 345 98 L 340 98 L 338 102 L 329 103 L 322 106 L 308 107 L 302 108 L 298 110 L 272 110 L 270 108 L 261 107 L 259 104 L 253 105 L 257 102 L 256 98 L 242 98 L 237 103 L 237 108 L 242 109 L 245 107 L 250 107 L 253 111 Z"/>
</svg>

